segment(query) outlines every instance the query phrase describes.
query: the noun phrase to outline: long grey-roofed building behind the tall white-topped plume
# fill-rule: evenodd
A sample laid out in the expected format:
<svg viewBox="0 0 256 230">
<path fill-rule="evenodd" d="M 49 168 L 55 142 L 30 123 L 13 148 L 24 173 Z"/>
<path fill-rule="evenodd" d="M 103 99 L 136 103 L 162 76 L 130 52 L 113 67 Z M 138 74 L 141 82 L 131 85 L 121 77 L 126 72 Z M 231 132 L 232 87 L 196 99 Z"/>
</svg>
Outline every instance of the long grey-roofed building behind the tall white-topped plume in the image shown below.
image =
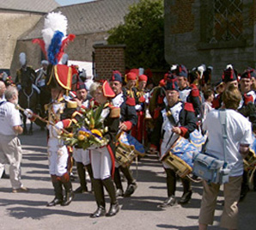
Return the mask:
<svg viewBox="0 0 256 230">
<path fill-rule="evenodd" d="M 55 12 L 60 11 L 67 17 L 68 33 L 76 35 L 76 39 L 70 42 L 65 50 L 70 60 L 92 62 L 93 46 L 107 45 L 107 31 L 123 23 L 129 6 L 138 2 L 139 0 L 101 0 L 54 9 Z M 40 46 L 34 45 L 32 40 L 41 38 L 45 16 L 40 18 L 32 30 L 24 33 L 17 40 L 15 55 L 11 64 L 12 73 L 18 68 L 18 56 L 21 51 L 27 53 L 28 64 L 32 64 L 35 68 L 40 67 L 40 61 L 44 57 L 40 51 Z M 111 64 L 111 66 L 114 68 L 115 64 Z M 124 68 L 125 66 L 122 70 Z"/>
</svg>

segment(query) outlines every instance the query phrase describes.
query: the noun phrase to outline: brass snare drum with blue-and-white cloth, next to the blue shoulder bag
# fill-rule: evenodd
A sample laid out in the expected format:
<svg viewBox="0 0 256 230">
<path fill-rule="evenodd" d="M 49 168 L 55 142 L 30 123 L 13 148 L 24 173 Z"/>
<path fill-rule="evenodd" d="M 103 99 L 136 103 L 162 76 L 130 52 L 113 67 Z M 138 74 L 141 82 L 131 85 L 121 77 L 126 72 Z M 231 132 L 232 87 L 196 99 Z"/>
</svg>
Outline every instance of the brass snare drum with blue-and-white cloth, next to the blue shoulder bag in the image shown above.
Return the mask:
<svg viewBox="0 0 256 230">
<path fill-rule="evenodd" d="M 192 173 L 192 154 L 194 152 L 198 152 L 198 149 L 180 136 L 169 152 L 164 154 L 160 160 L 170 166 L 180 178 L 185 178 L 186 175 Z"/>
</svg>

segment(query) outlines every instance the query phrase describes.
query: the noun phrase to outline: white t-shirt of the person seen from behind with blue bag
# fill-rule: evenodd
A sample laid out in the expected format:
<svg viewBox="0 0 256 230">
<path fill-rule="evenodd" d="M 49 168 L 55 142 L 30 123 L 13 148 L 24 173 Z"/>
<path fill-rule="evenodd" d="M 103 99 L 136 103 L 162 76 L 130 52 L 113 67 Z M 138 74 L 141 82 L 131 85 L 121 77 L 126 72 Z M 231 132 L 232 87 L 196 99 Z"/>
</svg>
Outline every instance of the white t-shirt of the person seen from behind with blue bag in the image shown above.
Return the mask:
<svg viewBox="0 0 256 230">
<path fill-rule="evenodd" d="M 230 176 L 241 176 L 243 173 L 243 160 L 239 153 L 240 144 L 251 144 L 252 128 L 247 118 L 231 109 L 226 109 L 227 145 L 226 161 L 231 164 Z M 222 127 L 219 120 L 219 112 L 211 110 L 204 120 L 203 129 L 208 130 L 209 142 L 206 145 L 206 153 L 215 155 L 223 160 Z"/>
</svg>

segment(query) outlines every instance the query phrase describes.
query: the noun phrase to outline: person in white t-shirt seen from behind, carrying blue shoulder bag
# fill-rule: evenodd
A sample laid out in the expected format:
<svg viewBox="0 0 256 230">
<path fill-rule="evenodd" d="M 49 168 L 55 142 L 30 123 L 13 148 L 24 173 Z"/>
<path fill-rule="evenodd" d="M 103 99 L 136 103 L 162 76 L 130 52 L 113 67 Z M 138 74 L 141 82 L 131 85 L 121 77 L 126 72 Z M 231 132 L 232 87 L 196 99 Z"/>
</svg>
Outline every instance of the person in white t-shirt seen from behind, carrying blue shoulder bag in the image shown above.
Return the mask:
<svg viewBox="0 0 256 230">
<path fill-rule="evenodd" d="M 252 142 L 251 123 L 235 110 L 241 101 L 238 88 L 231 86 L 222 94 L 223 106 L 226 112 L 227 144 L 225 159 L 231 167 L 229 183 L 224 185 L 224 208 L 221 219 L 221 227 L 238 229 L 238 207 L 240 199 L 241 179 L 243 174 L 243 158 L 247 155 L 249 145 Z M 222 125 L 219 121 L 219 112 L 212 110 L 207 115 L 203 130 L 208 131 L 209 142 L 206 153 L 213 154 L 220 160 L 224 160 L 224 146 L 222 138 Z M 199 214 L 199 230 L 206 230 L 212 224 L 216 207 L 216 197 L 220 185 L 203 181 L 204 192 Z"/>
</svg>

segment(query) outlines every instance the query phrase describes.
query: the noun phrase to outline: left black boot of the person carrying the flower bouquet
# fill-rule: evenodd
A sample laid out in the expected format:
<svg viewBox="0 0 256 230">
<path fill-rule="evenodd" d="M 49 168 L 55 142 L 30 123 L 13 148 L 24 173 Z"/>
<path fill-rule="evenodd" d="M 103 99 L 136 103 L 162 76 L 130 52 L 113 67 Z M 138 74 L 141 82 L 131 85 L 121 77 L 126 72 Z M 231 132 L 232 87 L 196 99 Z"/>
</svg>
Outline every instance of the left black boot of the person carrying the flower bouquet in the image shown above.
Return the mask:
<svg viewBox="0 0 256 230">
<path fill-rule="evenodd" d="M 94 197 L 98 208 L 90 215 L 91 218 L 106 215 L 104 190 L 101 179 L 94 179 Z"/>
</svg>

